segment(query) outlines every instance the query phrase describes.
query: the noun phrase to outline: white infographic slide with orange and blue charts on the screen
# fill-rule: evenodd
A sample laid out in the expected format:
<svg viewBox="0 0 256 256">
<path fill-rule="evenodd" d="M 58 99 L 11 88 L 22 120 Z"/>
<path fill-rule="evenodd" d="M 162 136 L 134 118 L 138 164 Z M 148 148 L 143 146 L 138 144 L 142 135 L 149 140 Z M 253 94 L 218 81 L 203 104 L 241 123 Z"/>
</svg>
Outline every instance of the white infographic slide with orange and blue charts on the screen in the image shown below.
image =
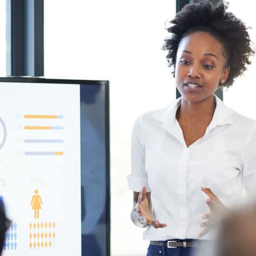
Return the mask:
<svg viewBox="0 0 256 256">
<path fill-rule="evenodd" d="M 81 255 L 79 84 L 0 83 L 3 255 Z"/>
</svg>

